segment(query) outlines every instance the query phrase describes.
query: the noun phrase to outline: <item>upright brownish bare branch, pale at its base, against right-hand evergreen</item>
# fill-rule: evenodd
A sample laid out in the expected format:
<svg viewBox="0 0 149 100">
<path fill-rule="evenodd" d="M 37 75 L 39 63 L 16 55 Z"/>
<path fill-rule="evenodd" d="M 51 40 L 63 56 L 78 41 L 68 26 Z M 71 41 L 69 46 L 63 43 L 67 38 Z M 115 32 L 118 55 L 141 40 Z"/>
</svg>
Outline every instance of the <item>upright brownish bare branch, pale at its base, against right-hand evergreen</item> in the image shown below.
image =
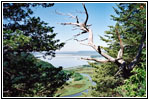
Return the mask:
<svg viewBox="0 0 149 100">
<path fill-rule="evenodd" d="M 120 38 L 120 34 L 118 33 L 117 28 L 115 29 L 115 32 L 116 32 L 117 38 L 120 42 L 120 50 L 119 50 L 118 55 L 117 55 L 117 59 L 119 59 L 119 58 L 122 58 L 122 56 L 123 56 L 124 47 L 123 47 L 123 42 Z"/>
</svg>

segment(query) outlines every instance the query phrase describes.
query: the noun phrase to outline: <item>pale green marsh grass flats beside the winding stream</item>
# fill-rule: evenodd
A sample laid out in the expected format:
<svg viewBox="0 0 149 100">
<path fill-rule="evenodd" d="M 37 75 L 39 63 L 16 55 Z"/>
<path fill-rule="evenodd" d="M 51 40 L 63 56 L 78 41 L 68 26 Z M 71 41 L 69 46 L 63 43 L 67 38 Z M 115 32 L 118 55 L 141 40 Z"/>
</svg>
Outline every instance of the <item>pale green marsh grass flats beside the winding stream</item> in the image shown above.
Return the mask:
<svg viewBox="0 0 149 100">
<path fill-rule="evenodd" d="M 94 72 L 94 68 L 92 67 L 77 67 L 77 68 L 74 67 L 74 68 L 65 69 L 65 70 L 71 70 L 71 71 L 74 71 L 75 73 L 85 73 L 85 74 L 89 74 L 90 76 Z M 74 81 L 74 78 L 73 78 L 72 81 L 70 81 L 68 85 L 65 85 L 63 89 L 59 89 L 56 95 L 61 94 L 60 96 L 67 96 L 67 95 L 76 94 L 88 89 L 91 85 L 92 83 L 89 81 L 88 77 L 83 76 L 83 79 L 79 81 Z"/>
</svg>

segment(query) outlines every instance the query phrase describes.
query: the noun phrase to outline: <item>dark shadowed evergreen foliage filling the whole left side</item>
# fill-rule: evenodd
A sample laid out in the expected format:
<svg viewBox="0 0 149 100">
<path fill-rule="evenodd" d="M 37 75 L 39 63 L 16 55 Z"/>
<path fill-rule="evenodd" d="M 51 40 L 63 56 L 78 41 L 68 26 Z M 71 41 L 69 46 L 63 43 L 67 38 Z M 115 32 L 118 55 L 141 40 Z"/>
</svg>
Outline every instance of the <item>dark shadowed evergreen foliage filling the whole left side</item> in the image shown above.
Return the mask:
<svg viewBox="0 0 149 100">
<path fill-rule="evenodd" d="M 62 67 L 37 60 L 31 52 L 45 51 L 55 56 L 64 43 L 39 17 L 32 17 L 32 7 L 51 7 L 45 3 L 3 4 L 3 94 L 4 96 L 54 96 L 69 74 Z"/>
</svg>

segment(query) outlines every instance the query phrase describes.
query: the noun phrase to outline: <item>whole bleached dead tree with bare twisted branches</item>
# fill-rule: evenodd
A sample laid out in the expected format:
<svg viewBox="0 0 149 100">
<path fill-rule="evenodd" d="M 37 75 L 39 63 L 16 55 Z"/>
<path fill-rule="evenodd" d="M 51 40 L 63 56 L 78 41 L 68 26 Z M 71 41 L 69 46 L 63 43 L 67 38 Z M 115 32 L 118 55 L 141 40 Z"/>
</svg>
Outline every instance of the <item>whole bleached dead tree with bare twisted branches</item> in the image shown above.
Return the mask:
<svg viewBox="0 0 149 100">
<path fill-rule="evenodd" d="M 86 14 L 86 19 L 85 19 L 84 22 L 81 23 L 79 21 L 79 19 L 78 19 L 77 16 L 72 16 L 71 15 L 71 17 L 73 17 L 73 18 L 76 19 L 76 23 L 68 22 L 68 23 L 60 23 L 60 24 L 61 25 L 72 25 L 72 26 L 76 26 L 80 30 L 82 30 L 82 32 L 79 33 L 79 34 L 77 34 L 77 35 L 75 35 L 75 37 L 76 36 L 80 36 L 80 35 L 82 35 L 84 33 L 88 33 L 88 38 L 87 39 L 84 39 L 84 40 L 88 40 L 88 44 L 82 43 L 84 40 L 78 40 L 76 38 L 74 40 L 76 40 L 80 44 L 83 44 L 83 45 L 87 45 L 87 46 L 92 47 L 96 52 L 98 52 L 106 60 L 99 60 L 99 59 L 96 59 L 96 58 L 81 58 L 81 59 L 92 60 L 92 61 L 96 61 L 96 62 L 99 62 L 99 63 L 113 62 L 116 65 L 118 65 L 118 67 L 119 67 L 119 70 L 118 70 L 118 72 L 115 75 L 117 75 L 120 71 L 123 71 L 123 73 L 126 74 L 126 76 L 127 76 L 127 72 L 128 71 L 130 72 L 135 67 L 135 65 L 137 64 L 137 62 L 138 62 L 138 60 L 139 60 L 139 58 L 141 56 L 142 49 L 145 46 L 144 41 L 145 41 L 145 38 L 146 38 L 146 33 L 144 33 L 144 35 L 142 36 L 142 39 L 141 39 L 140 46 L 138 48 L 138 52 L 137 52 L 136 57 L 129 64 L 126 64 L 126 61 L 122 58 L 123 57 L 123 52 L 124 52 L 124 46 L 123 46 L 123 42 L 122 42 L 122 40 L 120 38 L 120 34 L 118 32 L 118 29 L 115 29 L 115 32 L 116 32 L 117 38 L 119 40 L 120 50 L 118 51 L 117 58 L 114 58 L 114 57 L 111 57 L 110 55 L 106 54 L 105 52 L 103 52 L 101 50 L 100 46 L 96 46 L 94 44 L 94 42 L 93 42 L 93 32 L 92 32 L 91 28 L 89 27 L 91 25 L 88 25 L 87 24 L 89 15 L 88 15 L 87 9 L 85 7 L 85 4 L 82 4 L 82 5 L 83 5 L 83 8 L 84 8 L 84 11 L 85 11 L 85 14 Z"/>
</svg>

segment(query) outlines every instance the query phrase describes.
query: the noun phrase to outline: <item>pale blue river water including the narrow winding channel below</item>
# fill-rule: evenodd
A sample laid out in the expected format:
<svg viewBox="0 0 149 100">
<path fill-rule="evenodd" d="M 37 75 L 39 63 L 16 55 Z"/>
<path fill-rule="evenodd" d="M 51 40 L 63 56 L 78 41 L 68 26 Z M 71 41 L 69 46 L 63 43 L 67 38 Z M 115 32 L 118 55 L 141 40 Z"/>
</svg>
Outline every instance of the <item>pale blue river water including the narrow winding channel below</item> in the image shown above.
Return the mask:
<svg viewBox="0 0 149 100">
<path fill-rule="evenodd" d="M 81 60 L 81 57 L 83 58 L 89 58 L 92 55 L 96 55 L 97 53 L 95 52 L 66 52 L 66 53 L 58 53 L 56 54 L 56 57 L 54 57 L 52 60 L 50 59 L 50 56 L 46 56 L 46 58 L 43 57 L 41 53 L 33 53 L 35 57 L 38 57 L 38 59 L 41 59 L 43 61 L 49 62 L 55 67 L 62 66 L 63 68 L 69 68 L 69 67 L 77 67 L 81 65 L 88 65 L 88 62 L 86 60 Z M 88 77 L 88 79 L 92 82 L 92 85 L 96 85 L 95 82 L 92 81 L 92 78 L 88 74 L 81 73 L 81 75 Z M 88 93 L 88 89 L 73 94 L 73 95 L 67 95 L 64 97 L 76 97 L 76 96 L 81 96 L 82 93 Z"/>
</svg>

